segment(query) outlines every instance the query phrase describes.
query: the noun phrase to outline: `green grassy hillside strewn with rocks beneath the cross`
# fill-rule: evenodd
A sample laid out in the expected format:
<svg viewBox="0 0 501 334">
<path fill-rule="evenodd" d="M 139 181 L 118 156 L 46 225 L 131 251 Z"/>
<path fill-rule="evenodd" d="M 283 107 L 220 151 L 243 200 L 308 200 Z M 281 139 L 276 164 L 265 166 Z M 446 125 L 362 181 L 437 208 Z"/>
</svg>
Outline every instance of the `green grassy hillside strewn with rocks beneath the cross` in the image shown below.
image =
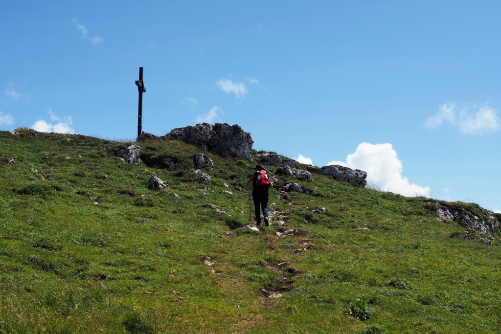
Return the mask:
<svg viewBox="0 0 501 334">
<path fill-rule="evenodd" d="M 0 132 L 1 333 L 501 330 L 500 243 L 451 237 L 465 230 L 435 200 L 275 175 L 257 232 L 240 227 L 255 162 L 203 152 L 203 185 L 198 148 L 137 143 L 132 165 L 113 151 L 129 144 Z M 147 189 L 151 172 L 169 188 Z M 289 182 L 319 195 L 283 197 Z"/>
</svg>

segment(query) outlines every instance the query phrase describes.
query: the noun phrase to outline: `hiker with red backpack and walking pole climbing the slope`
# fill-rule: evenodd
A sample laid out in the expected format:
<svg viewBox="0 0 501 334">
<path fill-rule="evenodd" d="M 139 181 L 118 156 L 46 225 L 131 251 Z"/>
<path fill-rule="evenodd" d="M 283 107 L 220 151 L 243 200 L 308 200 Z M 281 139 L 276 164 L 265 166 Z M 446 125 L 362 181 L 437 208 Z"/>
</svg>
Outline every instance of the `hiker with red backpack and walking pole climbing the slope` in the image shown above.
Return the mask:
<svg viewBox="0 0 501 334">
<path fill-rule="evenodd" d="M 272 181 L 268 178 L 265 169 L 261 165 L 256 166 L 256 173 L 248 182 L 249 187 L 253 187 L 252 197 L 254 200 L 254 209 L 256 212 L 256 225 L 261 225 L 261 210 L 263 210 L 263 218 L 265 225 L 270 226 L 268 218 L 268 190 L 273 187 Z"/>
</svg>

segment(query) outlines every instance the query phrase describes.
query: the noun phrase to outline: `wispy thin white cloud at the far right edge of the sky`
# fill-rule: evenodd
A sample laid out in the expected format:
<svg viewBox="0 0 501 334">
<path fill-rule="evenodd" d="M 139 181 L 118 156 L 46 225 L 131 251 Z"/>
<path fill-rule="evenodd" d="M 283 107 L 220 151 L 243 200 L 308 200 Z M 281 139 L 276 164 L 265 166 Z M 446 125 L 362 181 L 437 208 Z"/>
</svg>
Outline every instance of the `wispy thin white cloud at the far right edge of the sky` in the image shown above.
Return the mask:
<svg viewBox="0 0 501 334">
<path fill-rule="evenodd" d="M 455 104 L 443 104 L 438 113 L 425 122 L 425 127 L 434 129 L 448 123 L 459 129 L 462 134 L 475 135 L 495 131 L 499 128 L 496 110 L 489 106 L 457 108 Z"/>
</svg>

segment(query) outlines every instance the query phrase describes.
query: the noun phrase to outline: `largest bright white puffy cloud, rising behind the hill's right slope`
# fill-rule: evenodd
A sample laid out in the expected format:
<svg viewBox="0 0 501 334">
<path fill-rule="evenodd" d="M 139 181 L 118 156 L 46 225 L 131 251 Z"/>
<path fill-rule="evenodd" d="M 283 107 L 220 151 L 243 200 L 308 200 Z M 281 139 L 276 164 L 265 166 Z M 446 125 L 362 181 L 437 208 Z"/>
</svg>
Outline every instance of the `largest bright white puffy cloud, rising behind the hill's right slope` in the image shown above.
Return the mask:
<svg viewBox="0 0 501 334">
<path fill-rule="evenodd" d="M 404 196 L 429 197 L 430 188 L 410 183 L 402 175 L 402 161 L 389 143 L 358 145 L 355 153 L 346 157 L 346 163 L 331 161 L 328 165 L 342 165 L 367 172 L 367 182 L 381 189 Z"/>
</svg>

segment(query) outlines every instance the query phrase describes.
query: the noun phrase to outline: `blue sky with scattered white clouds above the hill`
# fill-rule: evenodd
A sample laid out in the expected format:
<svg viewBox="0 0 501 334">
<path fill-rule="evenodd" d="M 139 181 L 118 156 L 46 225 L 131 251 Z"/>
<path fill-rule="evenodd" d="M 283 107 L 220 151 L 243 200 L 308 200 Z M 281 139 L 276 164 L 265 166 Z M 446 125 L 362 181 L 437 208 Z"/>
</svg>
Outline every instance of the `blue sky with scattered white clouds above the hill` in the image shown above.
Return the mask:
<svg viewBox="0 0 501 334">
<path fill-rule="evenodd" d="M 134 140 L 238 124 L 257 150 L 501 210 L 499 1 L 0 5 L 0 130 Z"/>
</svg>

